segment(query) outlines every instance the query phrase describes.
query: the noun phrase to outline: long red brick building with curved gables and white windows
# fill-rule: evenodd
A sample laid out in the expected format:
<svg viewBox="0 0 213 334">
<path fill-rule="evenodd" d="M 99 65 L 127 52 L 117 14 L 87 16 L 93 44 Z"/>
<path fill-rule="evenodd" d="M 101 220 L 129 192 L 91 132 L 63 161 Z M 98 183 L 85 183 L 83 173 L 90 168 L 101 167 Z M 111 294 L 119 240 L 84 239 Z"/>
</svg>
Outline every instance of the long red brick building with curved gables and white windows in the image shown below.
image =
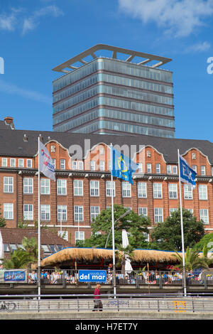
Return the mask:
<svg viewBox="0 0 213 334">
<path fill-rule="evenodd" d="M 40 176 L 41 223 L 65 231 L 72 245 L 90 237 L 91 221 L 111 206 L 110 144 L 140 163 L 133 185 L 114 178 L 114 203 L 148 215 L 152 226 L 179 205 L 178 149 L 197 171 L 182 183 L 182 207 L 213 230 L 213 144 L 153 136 L 27 131 L 0 124 L 0 204 L 7 227 L 38 220 L 38 136 L 55 163 L 56 182 Z M 79 232 L 79 233 L 78 233 Z"/>
</svg>

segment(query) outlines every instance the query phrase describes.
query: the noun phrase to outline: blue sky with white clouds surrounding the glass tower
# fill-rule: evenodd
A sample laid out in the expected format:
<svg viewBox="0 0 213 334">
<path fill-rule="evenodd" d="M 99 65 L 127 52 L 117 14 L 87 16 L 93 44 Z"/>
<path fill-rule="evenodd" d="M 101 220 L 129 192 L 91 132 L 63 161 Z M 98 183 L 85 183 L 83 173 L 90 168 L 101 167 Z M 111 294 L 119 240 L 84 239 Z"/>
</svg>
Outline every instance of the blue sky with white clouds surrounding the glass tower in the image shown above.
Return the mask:
<svg viewBox="0 0 213 334">
<path fill-rule="evenodd" d="M 52 69 L 105 43 L 172 58 L 175 137 L 213 141 L 212 36 L 213 0 L 1 0 L 0 119 L 52 131 Z"/>
</svg>

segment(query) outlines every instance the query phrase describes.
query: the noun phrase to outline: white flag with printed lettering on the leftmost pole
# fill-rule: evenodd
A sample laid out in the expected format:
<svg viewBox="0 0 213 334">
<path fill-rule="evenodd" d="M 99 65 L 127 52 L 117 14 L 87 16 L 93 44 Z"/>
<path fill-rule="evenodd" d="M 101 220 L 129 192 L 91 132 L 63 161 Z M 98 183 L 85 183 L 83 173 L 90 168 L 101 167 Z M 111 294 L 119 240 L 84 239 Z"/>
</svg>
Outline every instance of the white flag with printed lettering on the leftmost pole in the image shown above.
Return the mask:
<svg viewBox="0 0 213 334">
<path fill-rule="evenodd" d="M 39 143 L 40 150 L 38 154 L 40 155 L 40 172 L 42 172 L 47 178 L 51 178 L 53 181 L 55 181 L 55 168 L 53 165 L 53 160 L 50 157 L 50 153 L 48 152 L 48 149 L 44 146 L 43 143 Z"/>
</svg>

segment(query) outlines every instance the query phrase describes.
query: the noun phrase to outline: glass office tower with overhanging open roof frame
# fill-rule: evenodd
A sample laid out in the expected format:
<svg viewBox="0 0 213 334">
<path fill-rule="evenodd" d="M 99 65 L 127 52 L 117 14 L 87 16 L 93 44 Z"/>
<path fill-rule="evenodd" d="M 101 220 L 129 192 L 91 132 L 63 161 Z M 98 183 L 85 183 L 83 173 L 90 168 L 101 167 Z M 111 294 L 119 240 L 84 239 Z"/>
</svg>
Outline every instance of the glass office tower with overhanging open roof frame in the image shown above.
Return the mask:
<svg viewBox="0 0 213 334">
<path fill-rule="evenodd" d="M 65 73 L 53 81 L 53 130 L 174 138 L 172 72 L 157 68 L 170 60 L 140 53 L 148 60 L 133 63 L 131 50 L 111 47 L 112 58 L 91 50 L 89 62 L 82 53 L 53 69 Z M 117 59 L 118 50 L 129 58 Z M 160 63 L 145 65 L 152 60 Z"/>
</svg>

